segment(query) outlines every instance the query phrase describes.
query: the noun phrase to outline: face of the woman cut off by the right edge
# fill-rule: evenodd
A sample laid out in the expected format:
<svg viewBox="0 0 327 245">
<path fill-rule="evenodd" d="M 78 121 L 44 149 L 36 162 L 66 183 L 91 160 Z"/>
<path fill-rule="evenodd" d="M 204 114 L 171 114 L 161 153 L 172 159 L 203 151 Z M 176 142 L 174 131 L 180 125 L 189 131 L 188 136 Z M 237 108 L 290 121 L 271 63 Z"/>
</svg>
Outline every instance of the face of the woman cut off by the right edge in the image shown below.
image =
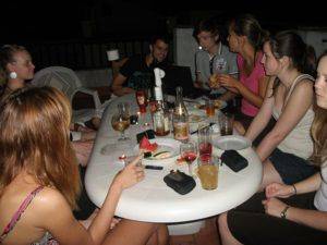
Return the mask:
<svg viewBox="0 0 327 245">
<path fill-rule="evenodd" d="M 327 109 L 327 56 L 319 61 L 315 90 L 318 107 Z"/>
</svg>

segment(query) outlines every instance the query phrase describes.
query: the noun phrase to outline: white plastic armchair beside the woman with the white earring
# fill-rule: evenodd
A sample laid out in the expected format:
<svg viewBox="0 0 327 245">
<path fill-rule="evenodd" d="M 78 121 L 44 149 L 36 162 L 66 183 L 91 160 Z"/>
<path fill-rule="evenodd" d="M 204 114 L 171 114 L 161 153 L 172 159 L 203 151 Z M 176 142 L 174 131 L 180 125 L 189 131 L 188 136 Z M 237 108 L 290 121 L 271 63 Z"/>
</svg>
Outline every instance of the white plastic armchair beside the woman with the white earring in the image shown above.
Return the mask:
<svg viewBox="0 0 327 245">
<path fill-rule="evenodd" d="M 71 103 L 77 91 L 90 95 L 94 100 L 95 109 L 73 110 L 73 122 L 82 123 L 90 120 L 93 117 L 100 117 L 105 106 L 109 102 L 106 101 L 101 105 L 97 90 L 83 87 L 75 72 L 63 66 L 50 66 L 43 69 L 35 74 L 31 83 L 38 87 L 50 86 L 58 88 L 68 96 Z"/>
</svg>

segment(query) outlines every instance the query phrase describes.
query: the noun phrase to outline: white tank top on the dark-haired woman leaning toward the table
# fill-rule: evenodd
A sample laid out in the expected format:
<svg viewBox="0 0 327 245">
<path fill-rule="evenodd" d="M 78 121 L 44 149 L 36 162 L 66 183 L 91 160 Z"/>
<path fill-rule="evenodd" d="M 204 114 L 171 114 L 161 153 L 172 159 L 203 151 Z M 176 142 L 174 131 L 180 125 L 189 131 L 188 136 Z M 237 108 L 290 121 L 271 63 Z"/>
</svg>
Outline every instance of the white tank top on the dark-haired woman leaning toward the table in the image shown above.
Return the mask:
<svg viewBox="0 0 327 245">
<path fill-rule="evenodd" d="M 302 79 L 314 78 L 311 75 L 302 74 L 294 79 L 289 94 L 286 97 L 284 103 L 287 103 L 296 84 Z M 296 108 L 294 108 L 296 109 Z M 279 111 L 276 107 L 272 108 L 272 117 L 278 120 L 282 111 Z M 313 140 L 310 134 L 311 124 L 314 119 L 314 111 L 312 107 L 306 111 L 304 117 L 294 126 L 294 128 L 286 136 L 286 138 L 278 145 L 278 148 L 287 154 L 293 154 L 303 159 L 307 159 L 313 152 Z"/>
</svg>

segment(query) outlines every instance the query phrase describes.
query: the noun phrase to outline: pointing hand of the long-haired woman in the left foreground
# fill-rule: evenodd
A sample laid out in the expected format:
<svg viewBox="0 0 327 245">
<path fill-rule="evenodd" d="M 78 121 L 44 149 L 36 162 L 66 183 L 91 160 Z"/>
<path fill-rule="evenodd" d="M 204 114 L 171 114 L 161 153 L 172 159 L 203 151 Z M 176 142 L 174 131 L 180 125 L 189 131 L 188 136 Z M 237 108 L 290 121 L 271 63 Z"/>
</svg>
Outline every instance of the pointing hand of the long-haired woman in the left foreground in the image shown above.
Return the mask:
<svg viewBox="0 0 327 245">
<path fill-rule="evenodd" d="M 138 161 L 142 159 L 142 155 L 136 157 L 131 163 L 129 163 L 122 171 L 120 171 L 112 185 L 119 186 L 119 188 L 124 189 L 135 185 L 137 182 L 144 179 L 144 168 L 137 166 Z"/>
</svg>

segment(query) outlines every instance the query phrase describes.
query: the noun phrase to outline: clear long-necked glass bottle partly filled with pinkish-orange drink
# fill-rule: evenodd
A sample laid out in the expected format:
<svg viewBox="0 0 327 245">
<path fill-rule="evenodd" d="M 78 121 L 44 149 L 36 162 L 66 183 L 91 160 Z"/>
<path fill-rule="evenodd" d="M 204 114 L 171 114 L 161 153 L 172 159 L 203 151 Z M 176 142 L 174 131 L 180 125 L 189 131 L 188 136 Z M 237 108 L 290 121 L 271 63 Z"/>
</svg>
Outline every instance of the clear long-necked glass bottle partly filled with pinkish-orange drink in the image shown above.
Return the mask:
<svg viewBox="0 0 327 245">
<path fill-rule="evenodd" d="M 173 137 L 186 143 L 189 140 L 189 113 L 183 102 L 183 88 L 175 88 L 175 103 L 173 109 Z"/>
</svg>

